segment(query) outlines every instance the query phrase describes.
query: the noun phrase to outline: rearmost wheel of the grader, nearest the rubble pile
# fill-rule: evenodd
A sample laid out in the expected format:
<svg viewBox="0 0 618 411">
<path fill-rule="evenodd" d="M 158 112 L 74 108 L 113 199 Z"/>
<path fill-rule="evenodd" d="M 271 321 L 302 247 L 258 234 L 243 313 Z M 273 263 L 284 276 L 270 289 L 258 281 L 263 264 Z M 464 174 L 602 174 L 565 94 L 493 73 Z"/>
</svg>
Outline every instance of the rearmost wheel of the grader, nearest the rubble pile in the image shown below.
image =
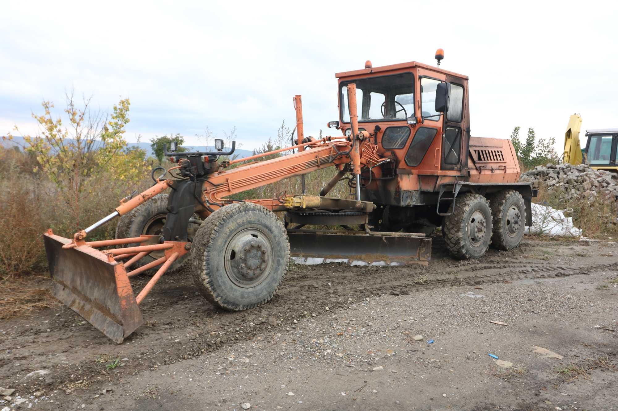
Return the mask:
<svg viewBox="0 0 618 411">
<path fill-rule="evenodd" d="M 489 199 L 493 216 L 491 246 L 510 250 L 522 241 L 526 221 L 526 206 L 522 194 L 515 190 L 503 190 Z"/>
</svg>

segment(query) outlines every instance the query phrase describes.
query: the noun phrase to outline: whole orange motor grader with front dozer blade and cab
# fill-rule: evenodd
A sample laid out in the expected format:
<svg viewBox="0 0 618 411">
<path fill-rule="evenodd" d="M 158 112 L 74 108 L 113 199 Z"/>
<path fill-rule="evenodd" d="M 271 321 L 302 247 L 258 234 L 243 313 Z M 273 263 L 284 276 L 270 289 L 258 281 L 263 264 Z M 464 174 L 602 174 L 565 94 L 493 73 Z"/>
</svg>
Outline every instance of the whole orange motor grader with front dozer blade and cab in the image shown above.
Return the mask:
<svg viewBox="0 0 618 411">
<path fill-rule="evenodd" d="M 438 65 L 442 57 L 439 51 Z M 208 301 L 245 310 L 273 297 L 290 255 L 308 263 L 428 264 L 436 226 L 457 259 L 482 257 L 490 244 L 508 250 L 520 243 L 535 191 L 517 182 L 509 140 L 470 137 L 466 76 L 418 62 L 366 62 L 336 77 L 339 120 L 328 126 L 340 135 L 305 137 L 295 96 L 294 146 L 232 161 L 219 157 L 231 155 L 235 143 L 226 152 L 221 140 L 213 152 L 172 146 L 166 156 L 176 166 L 153 177 L 150 189 L 121 200 L 72 239 L 45 233 L 54 296 L 122 342 L 142 324 L 138 305 L 146 294 L 184 264 Z M 319 195 L 234 199 L 326 167 L 337 173 Z M 352 198 L 327 197 L 341 180 Z M 274 212 L 285 212 L 284 221 Z M 116 217 L 116 239 L 87 240 Z M 147 270 L 156 272 L 136 296 L 130 278 Z"/>
</svg>

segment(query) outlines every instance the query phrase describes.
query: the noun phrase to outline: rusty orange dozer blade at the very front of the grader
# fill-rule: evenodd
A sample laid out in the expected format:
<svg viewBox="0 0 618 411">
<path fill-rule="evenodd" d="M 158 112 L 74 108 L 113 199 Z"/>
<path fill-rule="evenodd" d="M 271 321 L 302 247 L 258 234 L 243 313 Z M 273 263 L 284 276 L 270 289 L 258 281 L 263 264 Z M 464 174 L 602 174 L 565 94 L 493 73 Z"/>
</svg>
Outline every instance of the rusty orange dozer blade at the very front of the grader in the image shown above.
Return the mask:
<svg viewBox="0 0 618 411">
<path fill-rule="evenodd" d="M 89 246 L 63 249 L 71 240 L 43 235 L 52 294 L 117 343 L 142 325 L 142 313 L 124 265 Z"/>
</svg>

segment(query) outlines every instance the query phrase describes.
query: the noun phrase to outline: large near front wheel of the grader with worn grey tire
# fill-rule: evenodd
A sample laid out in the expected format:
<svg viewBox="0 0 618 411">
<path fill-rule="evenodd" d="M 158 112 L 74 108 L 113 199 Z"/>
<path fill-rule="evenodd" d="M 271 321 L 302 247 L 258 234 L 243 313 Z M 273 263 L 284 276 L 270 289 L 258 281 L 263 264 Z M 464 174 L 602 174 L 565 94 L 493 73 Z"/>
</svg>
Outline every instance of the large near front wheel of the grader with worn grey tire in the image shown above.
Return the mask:
<svg viewBox="0 0 618 411">
<path fill-rule="evenodd" d="M 200 293 L 228 311 L 268 302 L 286 276 L 290 243 L 283 223 L 261 205 L 239 202 L 211 214 L 191 250 Z"/>
</svg>

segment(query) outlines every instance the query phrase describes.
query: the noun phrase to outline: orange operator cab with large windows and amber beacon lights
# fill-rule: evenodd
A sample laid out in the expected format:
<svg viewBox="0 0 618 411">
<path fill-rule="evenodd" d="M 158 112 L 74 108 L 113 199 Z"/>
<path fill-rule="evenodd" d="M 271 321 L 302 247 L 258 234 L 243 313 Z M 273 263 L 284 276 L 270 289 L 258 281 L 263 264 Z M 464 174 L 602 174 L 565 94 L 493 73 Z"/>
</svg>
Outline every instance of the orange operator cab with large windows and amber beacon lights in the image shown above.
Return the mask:
<svg viewBox="0 0 618 411">
<path fill-rule="evenodd" d="M 436 52 L 438 62 L 444 52 Z M 463 176 L 467 170 L 470 120 L 468 77 L 408 62 L 337 73 L 339 122 L 329 127 L 350 135 L 347 86 L 356 85 L 358 129 L 368 131 L 381 156 L 397 170 Z"/>
</svg>

